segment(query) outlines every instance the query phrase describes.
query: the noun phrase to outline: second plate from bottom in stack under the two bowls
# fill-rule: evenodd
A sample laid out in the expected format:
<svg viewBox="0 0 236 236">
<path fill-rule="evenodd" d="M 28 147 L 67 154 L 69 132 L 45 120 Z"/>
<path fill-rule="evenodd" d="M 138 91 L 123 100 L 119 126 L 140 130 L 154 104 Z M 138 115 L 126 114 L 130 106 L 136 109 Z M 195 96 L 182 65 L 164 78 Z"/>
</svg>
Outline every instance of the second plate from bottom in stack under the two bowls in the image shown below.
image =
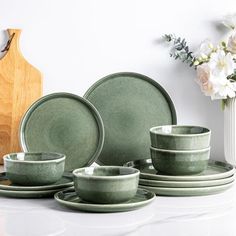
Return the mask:
<svg viewBox="0 0 236 236">
<path fill-rule="evenodd" d="M 150 186 L 150 187 L 169 187 L 169 188 L 195 188 L 195 187 L 210 187 L 228 184 L 234 181 L 234 175 L 215 180 L 206 181 L 160 181 L 160 180 L 150 180 L 150 179 L 139 179 L 140 185 Z"/>
</svg>

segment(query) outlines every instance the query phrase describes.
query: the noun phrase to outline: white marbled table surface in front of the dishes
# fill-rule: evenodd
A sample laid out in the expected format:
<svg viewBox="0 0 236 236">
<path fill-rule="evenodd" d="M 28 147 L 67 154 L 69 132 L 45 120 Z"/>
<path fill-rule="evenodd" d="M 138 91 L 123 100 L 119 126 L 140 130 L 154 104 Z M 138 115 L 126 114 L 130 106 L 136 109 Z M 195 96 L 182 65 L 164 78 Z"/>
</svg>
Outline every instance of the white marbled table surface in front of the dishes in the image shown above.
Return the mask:
<svg viewBox="0 0 236 236">
<path fill-rule="evenodd" d="M 83 213 L 53 199 L 0 197 L 0 236 L 236 235 L 236 185 L 203 197 L 156 197 L 123 213 Z"/>
</svg>

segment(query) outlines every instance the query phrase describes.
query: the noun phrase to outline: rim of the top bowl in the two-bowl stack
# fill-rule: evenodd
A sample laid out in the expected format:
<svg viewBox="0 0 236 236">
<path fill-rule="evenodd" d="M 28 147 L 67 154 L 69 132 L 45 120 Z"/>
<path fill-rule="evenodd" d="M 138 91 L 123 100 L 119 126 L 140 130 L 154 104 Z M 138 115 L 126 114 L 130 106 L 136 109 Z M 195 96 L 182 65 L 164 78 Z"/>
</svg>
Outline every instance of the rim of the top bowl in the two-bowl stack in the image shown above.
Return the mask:
<svg viewBox="0 0 236 236">
<path fill-rule="evenodd" d="M 156 129 L 160 129 L 162 127 L 183 127 L 183 128 L 202 128 L 202 129 L 206 129 L 207 131 L 204 133 L 197 133 L 197 134 L 173 134 L 173 133 L 159 133 L 156 132 L 154 130 Z M 205 136 L 205 135 L 209 135 L 211 134 L 211 130 L 209 128 L 206 128 L 204 126 L 200 126 L 200 125 L 160 125 L 160 126 L 154 126 L 152 128 L 150 128 L 150 133 L 152 134 L 156 134 L 156 135 L 160 135 L 160 136 L 170 136 L 170 137 L 196 137 L 196 136 Z"/>
</svg>

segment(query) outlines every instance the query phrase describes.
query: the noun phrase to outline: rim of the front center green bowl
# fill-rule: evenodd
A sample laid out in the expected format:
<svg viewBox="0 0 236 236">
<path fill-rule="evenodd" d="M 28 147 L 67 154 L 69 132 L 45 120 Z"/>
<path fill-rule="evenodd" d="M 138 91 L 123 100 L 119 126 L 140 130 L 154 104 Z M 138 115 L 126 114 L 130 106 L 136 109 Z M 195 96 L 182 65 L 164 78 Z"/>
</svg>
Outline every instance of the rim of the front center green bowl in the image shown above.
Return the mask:
<svg viewBox="0 0 236 236">
<path fill-rule="evenodd" d="M 124 175 L 107 175 L 107 176 L 99 176 L 99 175 L 85 175 L 83 173 L 78 173 L 79 171 L 83 171 L 85 169 L 88 168 L 93 168 L 93 169 L 129 169 L 129 170 L 133 170 L 133 173 L 130 174 L 124 174 Z M 140 174 L 140 170 L 133 168 L 133 167 L 127 167 L 127 166 L 87 166 L 87 167 L 83 167 L 83 168 L 78 168 L 73 170 L 72 172 L 74 177 L 82 177 L 85 179 L 107 179 L 107 180 L 113 180 L 113 179 L 126 179 L 129 177 L 134 177 L 134 176 L 139 176 Z"/>
</svg>

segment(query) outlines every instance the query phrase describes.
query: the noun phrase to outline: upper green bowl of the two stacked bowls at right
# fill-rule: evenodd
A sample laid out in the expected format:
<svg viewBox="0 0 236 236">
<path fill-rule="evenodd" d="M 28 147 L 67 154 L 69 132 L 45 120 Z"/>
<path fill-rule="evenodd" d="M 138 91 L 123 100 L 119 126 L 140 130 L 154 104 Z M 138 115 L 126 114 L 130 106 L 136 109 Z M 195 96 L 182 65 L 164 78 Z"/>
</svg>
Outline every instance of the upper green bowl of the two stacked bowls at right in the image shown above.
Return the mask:
<svg viewBox="0 0 236 236">
<path fill-rule="evenodd" d="M 208 128 L 188 125 L 164 125 L 150 129 L 152 147 L 166 150 L 198 150 L 210 146 Z"/>
</svg>

